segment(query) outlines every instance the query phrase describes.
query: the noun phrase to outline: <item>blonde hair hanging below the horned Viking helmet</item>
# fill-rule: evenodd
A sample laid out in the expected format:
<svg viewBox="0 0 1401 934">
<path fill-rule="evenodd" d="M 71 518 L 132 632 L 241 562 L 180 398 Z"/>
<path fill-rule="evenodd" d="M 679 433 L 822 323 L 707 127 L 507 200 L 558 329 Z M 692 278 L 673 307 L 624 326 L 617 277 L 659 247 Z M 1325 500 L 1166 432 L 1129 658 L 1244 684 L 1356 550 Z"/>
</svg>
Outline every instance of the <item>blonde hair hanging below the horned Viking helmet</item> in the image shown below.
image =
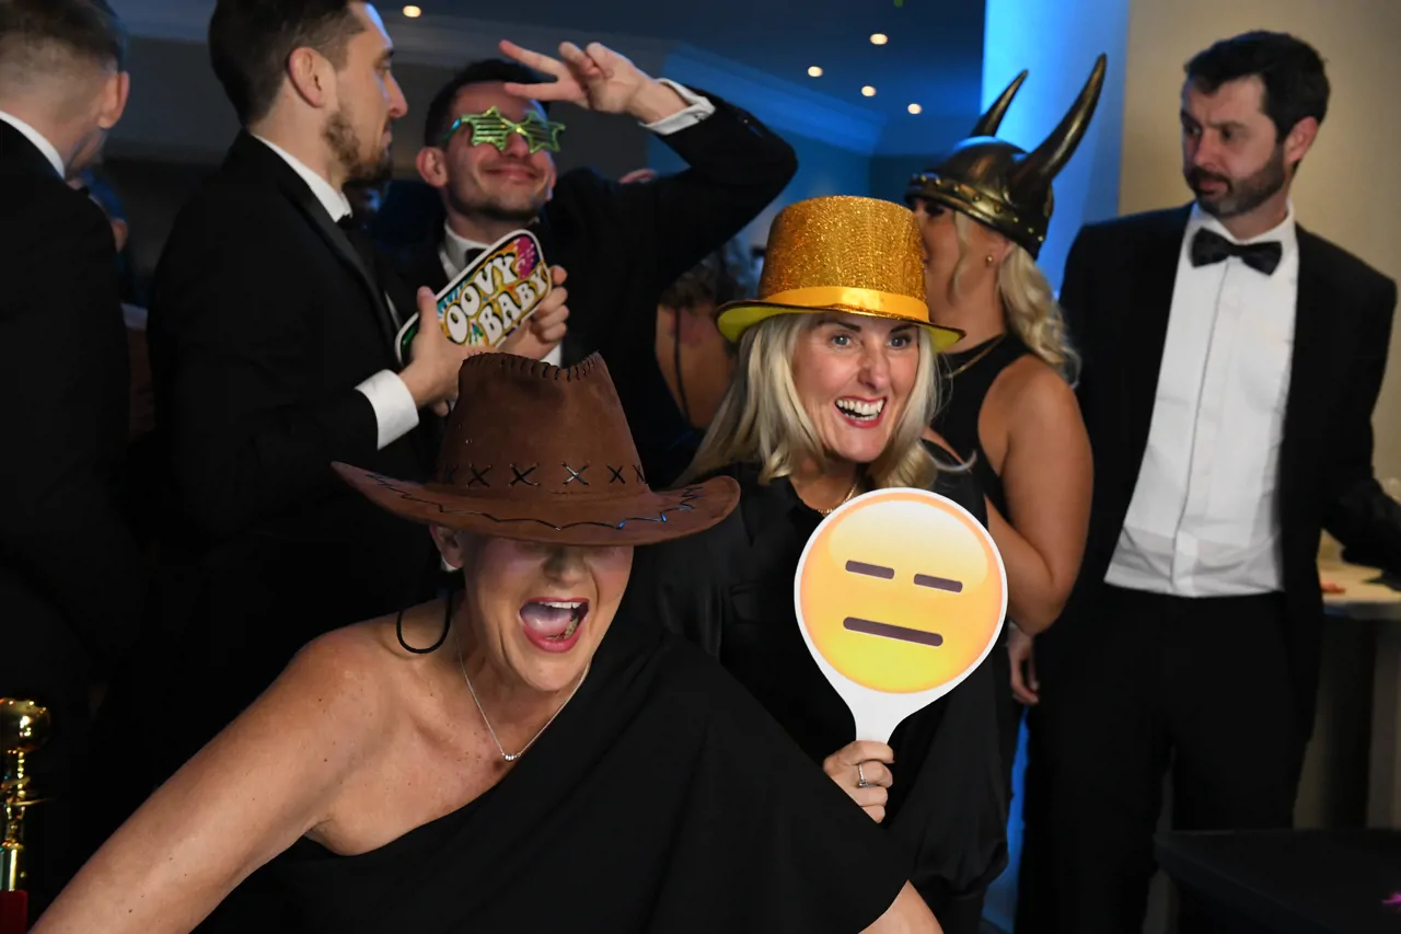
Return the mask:
<svg viewBox="0 0 1401 934">
<path fill-rule="evenodd" d="M 958 233 L 958 262 L 948 282 L 950 296 L 957 292 L 958 279 L 969 261 L 968 231 L 976 220 L 955 210 L 954 229 Z M 998 269 L 998 297 L 1007 327 L 1033 353 L 1075 384 L 1080 369 L 1080 355 L 1070 345 L 1061 304 L 1045 273 L 1023 247 L 1012 244 Z"/>
</svg>

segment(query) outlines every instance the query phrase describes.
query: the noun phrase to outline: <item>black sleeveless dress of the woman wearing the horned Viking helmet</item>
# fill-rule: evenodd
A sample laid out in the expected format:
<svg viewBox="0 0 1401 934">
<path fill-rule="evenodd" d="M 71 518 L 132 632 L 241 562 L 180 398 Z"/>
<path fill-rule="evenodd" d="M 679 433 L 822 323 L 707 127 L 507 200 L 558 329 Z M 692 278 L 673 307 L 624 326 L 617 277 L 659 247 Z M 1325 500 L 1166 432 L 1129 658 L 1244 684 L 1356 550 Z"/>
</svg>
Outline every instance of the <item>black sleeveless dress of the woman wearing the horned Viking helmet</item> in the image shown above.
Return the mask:
<svg viewBox="0 0 1401 934">
<path fill-rule="evenodd" d="M 967 351 L 944 353 L 943 363 L 951 379 L 944 383 L 944 398 L 932 425 L 964 463 L 971 466 L 972 475 L 984 495 L 1002 513 L 1003 519 L 1010 515 L 1007 498 L 1002 489 L 1002 477 L 992 468 L 992 461 L 982 449 L 982 439 L 978 436 L 978 418 L 982 415 L 982 404 L 988 398 L 988 390 L 992 388 L 993 380 L 1030 352 L 1016 334 L 1007 331 Z M 1009 632 L 1010 627 L 1005 625 L 998 648 L 992 652 L 992 673 L 998 691 L 1002 771 L 1010 802 L 1012 766 L 1017 757 L 1017 733 L 1021 729 L 1021 704 L 1012 696 L 1012 661 L 1007 658 Z"/>
</svg>

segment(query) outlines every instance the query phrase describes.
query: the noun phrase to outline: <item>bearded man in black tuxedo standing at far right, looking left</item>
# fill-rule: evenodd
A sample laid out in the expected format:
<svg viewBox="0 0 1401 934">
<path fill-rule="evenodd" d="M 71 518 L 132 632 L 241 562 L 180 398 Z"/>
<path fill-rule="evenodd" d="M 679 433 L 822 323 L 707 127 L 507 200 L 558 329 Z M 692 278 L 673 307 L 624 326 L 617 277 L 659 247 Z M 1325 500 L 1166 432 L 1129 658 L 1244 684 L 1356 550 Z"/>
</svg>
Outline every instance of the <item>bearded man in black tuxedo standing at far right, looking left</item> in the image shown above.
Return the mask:
<svg viewBox="0 0 1401 934">
<path fill-rule="evenodd" d="M 1372 475 L 1395 283 L 1289 199 L 1327 104 L 1304 42 L 1217 42 L 1182 88 L 1195 205 L 1089 226 L 1070 251 L 1094 510 L 1037 645 L 1017 934 L 1140 930 L 1168 767 L 1178 829 L 1289 827 L 1320 529 L 1401 567 Z M 1181 930 L 1219 930 L 1188 896 Z"/>
</svg>

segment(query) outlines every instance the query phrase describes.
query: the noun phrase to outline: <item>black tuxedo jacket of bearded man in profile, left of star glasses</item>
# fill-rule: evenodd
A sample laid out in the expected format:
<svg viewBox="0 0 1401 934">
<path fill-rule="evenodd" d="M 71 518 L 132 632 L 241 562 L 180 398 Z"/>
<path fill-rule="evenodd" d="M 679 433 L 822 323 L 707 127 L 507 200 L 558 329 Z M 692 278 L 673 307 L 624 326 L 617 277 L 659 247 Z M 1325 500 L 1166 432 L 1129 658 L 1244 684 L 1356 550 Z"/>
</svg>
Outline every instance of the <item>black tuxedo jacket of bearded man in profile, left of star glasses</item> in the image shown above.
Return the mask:
<svg viewBox="0 0 1401 934">
<path fill-rule="evenodd" d="M 412 314 L 402 283 L 384 286 Z M 429 586 L 427 530 L 373 506 L 331 463 L 426 480 L 439 424 L 422 411 L 377 450 L 354 387 L 398 369 L 384 292 L 305 182 L 247 133 L 177 217 L 149 327 L 171 471 L 170 673 L 196 718 L 177 732 L 202 742 L 308 639 Z"/>
</svg>

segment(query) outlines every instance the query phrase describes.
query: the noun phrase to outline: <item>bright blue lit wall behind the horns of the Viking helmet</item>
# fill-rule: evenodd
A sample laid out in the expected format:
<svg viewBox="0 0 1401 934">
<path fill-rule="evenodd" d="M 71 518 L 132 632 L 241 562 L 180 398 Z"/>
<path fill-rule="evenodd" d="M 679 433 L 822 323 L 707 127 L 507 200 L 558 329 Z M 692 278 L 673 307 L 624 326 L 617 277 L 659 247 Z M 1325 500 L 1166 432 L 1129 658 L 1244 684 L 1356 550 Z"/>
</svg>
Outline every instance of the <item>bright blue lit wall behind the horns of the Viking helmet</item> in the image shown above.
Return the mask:
<svg viewBox="0 0 1401 934">
<path fill-rule="evenodd" d="M 988 0 L 985 22 L 982 104 L 991 104 L 1027 69 L 998 136 L 1028 150 L 1061 122 L 1094 57 L 1108 56 L 1094 122 L 1055 181 L 1056 208 L 1040 264 L 1059 289 L 1080 226 L 1118 215 L 1129 0 Z"/>
</svg>

